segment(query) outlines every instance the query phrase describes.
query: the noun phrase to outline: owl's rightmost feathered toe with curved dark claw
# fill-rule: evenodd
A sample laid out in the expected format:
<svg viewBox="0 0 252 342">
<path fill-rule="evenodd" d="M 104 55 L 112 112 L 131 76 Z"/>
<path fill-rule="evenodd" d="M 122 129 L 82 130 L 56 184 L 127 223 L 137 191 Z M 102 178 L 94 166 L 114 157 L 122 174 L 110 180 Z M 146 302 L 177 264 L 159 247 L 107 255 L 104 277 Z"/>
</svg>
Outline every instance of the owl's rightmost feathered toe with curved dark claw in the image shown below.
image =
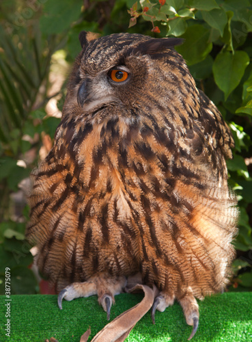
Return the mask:
<svg viewBox="0 0 252 342">
<path fill-rule="evenodd" d="M 193 326 L 193 331 L 191 332 L 191 335 L 188 338 L 188 341 L 189 341 L 193 339 L 195 333 L 197 332 L 197 328 L 199 326 L 199 306 L 193 294 L 191 293 L 184 295 L 184 297 L 181 298 L 179 302 L 183 308 L 184 316 L 186 317 L 186 323 L 189 326 Z"/>
</svg>

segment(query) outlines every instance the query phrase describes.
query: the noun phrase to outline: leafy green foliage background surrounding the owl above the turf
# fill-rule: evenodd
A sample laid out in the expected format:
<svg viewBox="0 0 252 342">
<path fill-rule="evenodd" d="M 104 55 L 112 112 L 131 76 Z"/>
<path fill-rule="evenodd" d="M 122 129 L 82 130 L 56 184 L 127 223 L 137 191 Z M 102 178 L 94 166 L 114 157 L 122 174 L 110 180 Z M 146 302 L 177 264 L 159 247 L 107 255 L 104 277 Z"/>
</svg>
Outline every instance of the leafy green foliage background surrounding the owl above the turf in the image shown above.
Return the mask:
<svg viewBox="0 0 252 342">
<path fill-rule="evenodd" d="M 1 0 L 0 294 L 5 267 L 11 269 L 12 294 L 41 290 L 25 241 L 27 177 L 53 144 L 82 30 L 185 39 L 176 49 L 236 141 L 227 166 L 238 194 L 240 231 L 229 290 L 251 290 L 252 1 Z"/>
</svg>

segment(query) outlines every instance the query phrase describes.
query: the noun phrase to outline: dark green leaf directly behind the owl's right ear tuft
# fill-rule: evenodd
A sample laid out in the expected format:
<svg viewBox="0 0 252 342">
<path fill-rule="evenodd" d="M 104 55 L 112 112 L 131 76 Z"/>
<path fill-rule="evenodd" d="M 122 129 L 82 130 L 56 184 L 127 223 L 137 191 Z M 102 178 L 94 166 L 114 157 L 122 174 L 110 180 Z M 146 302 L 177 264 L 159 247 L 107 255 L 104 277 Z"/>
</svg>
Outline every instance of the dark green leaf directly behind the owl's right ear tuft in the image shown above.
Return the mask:
<svg viewBox="0 0 252 342">
<path fill-rule="evenodd" d="M 208 42 L 210 30 L 201 25 L 188 27 L 181 38 L 185 39 L 184 44 L 176 47 L 188 65 L 196 64 L 206 58 L 212 50 L 212 43 Z"/>
</svg>

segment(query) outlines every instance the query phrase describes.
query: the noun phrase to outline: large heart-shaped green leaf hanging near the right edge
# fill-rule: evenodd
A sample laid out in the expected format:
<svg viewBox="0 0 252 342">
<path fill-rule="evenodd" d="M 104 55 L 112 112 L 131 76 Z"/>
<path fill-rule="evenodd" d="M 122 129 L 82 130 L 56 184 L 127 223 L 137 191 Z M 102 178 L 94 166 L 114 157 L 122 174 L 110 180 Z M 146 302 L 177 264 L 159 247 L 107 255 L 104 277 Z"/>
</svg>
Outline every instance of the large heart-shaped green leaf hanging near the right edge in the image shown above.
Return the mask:
<svg viewBox="0 0 252 342">
<path fill-rule="evenodd" d="M 249 55 L 244 51 L 225 51 L 214 60 L 213 73 L 217 86 L 224 92 L 225 100 L 238 86 L 245 68 L 249 65 Z"/>
</svg>

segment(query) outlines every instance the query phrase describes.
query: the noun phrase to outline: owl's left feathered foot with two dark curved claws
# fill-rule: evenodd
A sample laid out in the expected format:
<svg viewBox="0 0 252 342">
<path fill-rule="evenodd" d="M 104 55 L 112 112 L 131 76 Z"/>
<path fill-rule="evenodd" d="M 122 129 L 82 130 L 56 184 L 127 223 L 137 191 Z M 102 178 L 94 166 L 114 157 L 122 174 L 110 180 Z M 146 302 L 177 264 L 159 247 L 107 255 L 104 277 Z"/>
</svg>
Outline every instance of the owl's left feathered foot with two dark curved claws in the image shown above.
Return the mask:
<svg viewBox="0 0 252 342">
<path fill-rule="evenodd" d="M 58 305 L 62 309 L 62 300 L 73 300 L 79 297 L 89 297 L 98 295 L 98 302 L 107 313 L 107 319 L 110 319 L 112 304 L 115 303 L 114 296 L 121 293 L 126 285 L 126 278 L 109 278 L 108 274 L 98 274 L 89 278 L 85 282 L 73 282 L 60 291 L 58 295 Z"/>
</svg>

